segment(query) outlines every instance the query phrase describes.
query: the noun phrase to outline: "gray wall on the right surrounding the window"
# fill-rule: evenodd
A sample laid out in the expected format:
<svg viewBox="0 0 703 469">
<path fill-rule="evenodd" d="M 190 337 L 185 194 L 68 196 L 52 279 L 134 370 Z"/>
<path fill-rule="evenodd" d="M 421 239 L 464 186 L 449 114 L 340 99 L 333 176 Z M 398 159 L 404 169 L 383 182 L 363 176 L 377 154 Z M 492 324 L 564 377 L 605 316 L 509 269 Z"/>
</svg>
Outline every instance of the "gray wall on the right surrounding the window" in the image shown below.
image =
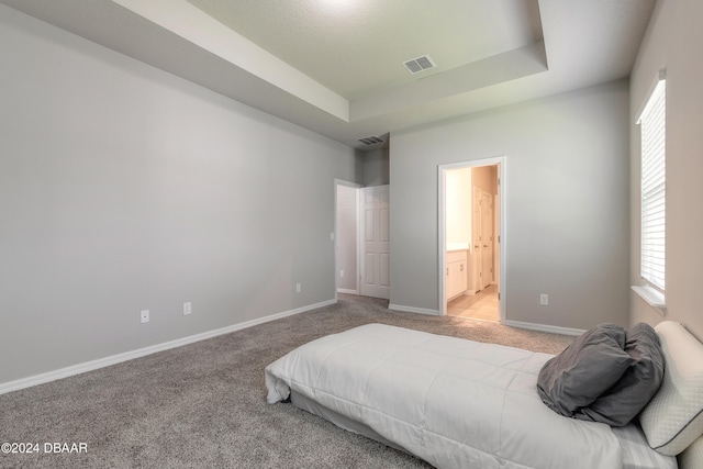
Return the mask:
<svg viewBox="0 0 703 469">
<path fill-rule="evenodd" d="M 639 127 L 637 114 L 667 69 L 667 306 L 666 319 L 679 321 L 703 338 L 703 2 L 658 1 L 632 75 L 629 109 L 632 148 L 632 284 L 639 284 Z M 632 322 L 661 321 L 632 293 Z"/>
</svg>

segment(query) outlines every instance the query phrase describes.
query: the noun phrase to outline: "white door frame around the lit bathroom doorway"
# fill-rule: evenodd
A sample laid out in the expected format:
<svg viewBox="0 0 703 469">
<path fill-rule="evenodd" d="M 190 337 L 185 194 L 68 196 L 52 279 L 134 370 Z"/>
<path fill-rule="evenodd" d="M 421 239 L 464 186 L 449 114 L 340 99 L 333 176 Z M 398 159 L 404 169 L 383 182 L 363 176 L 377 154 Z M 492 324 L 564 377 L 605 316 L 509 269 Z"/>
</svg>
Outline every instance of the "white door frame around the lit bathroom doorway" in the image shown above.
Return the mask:
<svg viewBox="0 0 703 469">
<path fill-rule="evenodd" d="M 445 290 L 445 269 L 446 269 L 446 264 L 447 264 L 447 259 L 446 259 L 446 253 L 447 253 L 447 236 L 446 236 L 446 217 L 447 217 L 447 206 L 446 206 L 446 200 L 445 200 L 445 192 L 446 192 L 446 181 L 447 181 L 447 171 L 453 170 L 453 169 L 461 169 L 461 168 L 475 168 L 475 167 L 480 167 L 480 166 L 494 166 L 498 165 L 498 177 L 500 180 L 500 183 L 498 185 L 498 200 L 500 201 L 500 205 L 498 206 L 498 210 L 500 212 L 499 215 L 499 220 L 500 220 L 500 232 L 498 233 L 498 236 L 500 236 L 500 243 L 498 246 L 498 252 L 499 252 L 499 294 L 500 294 L 500 299 L 499 299 L 499 310 L 500 310 L 500 321 L 501 323 L 505 322 L 505 301 L 507 299 L 507 282 L 505 281 L 505 259 L 506 259 L 506 246 L 507 246 L 507 238 L 505 236 L 505 232 L 506 232 L 506 214 L 507 214 L 507 210 L 506 210 L 506 203 L 505 201 L 507 200 L 505 197 L 505 192 L 506 192 L 506 186 L 507 186 L 507 178 L 505 177 L 507 174 L 507 168 L 506 168 L 506 160 L 507 158 L 505 156 L 496 156 L 496 157 L 491 157 L 491 158 L 482 158 L 482 159 L 471 159 L 471 160 L 467 160 L 467 161 L 459 161 L 459 163 L 449 163 L 449 164 L 444 164 L 444 165 L 438 165 L 437 166 L 437 188 L 438 188 L 438 197 L 437 197 L 437 219 L 438 219 L 438 226 L 437 226 L 437 234 L 438 234 L 438 259 L 439 261 L 438 264 L 438 270 L 437 270 L 437 289 L 438 289 L 438 295 L 437 298 L 439 299 L 439 304 L 437 308 L 437 311 L 439 311 L 439 315 L 446 316 L 447 315 L 447 299 L 446 299 L 446 290 Z M 498 204 L 499 202 L 494 202 L 494 204 Z M 495 205 L 494 205 L 495 206 Z"/>
</svg>

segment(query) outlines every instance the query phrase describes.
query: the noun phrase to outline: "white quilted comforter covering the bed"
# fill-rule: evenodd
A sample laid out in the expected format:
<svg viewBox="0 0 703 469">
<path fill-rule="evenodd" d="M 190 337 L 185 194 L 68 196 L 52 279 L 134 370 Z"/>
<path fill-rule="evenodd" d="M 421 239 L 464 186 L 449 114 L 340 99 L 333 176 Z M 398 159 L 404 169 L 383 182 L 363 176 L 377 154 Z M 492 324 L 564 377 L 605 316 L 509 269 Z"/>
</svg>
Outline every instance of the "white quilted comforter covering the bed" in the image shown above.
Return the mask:
<svg viewBox="0 0 703 469">
<path fill-rule="evenodd" d="M 550 357 L 369 324 L 269 365 L 268 402 L 294 390 L 440 468 L 622 468 L 627 451 L 611 427 L 539 400 L 537 373 Z"/>
</svg>

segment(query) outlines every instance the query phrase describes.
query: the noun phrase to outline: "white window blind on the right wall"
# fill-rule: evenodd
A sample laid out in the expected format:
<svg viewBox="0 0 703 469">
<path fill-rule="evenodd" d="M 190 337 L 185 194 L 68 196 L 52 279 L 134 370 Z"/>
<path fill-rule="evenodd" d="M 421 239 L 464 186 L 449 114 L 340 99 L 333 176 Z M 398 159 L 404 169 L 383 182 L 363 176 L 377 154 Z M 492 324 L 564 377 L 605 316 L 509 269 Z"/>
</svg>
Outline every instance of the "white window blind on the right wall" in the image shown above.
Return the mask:
<svg viewBox="0 0 703 469">
<path fill-rule="evenodd" d="M 661 291 L 666 287 L 666 80 L 660 76 L 638 121 L 641 131 L 640 275 Z"/>
</svg>

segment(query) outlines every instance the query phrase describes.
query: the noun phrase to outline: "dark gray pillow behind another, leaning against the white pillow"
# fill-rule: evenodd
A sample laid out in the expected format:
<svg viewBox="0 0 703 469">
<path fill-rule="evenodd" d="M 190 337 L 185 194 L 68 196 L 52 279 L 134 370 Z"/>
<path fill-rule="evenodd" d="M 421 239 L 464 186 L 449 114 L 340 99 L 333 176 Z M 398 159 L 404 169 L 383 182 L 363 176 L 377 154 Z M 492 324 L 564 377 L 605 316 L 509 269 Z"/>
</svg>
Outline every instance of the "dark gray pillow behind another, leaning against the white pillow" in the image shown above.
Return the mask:
<svg viewBox="0 0 703 469">
<path fill-rule="evenodd" d="M 663 379 L 665 359 L 654 327 L 639 323 L 627 330 L 625 351 L 633 358 L 633 365 L 611 389 L 578 412 L 577 418 L 624 426 L 657 393 Z"/>
</svg>

